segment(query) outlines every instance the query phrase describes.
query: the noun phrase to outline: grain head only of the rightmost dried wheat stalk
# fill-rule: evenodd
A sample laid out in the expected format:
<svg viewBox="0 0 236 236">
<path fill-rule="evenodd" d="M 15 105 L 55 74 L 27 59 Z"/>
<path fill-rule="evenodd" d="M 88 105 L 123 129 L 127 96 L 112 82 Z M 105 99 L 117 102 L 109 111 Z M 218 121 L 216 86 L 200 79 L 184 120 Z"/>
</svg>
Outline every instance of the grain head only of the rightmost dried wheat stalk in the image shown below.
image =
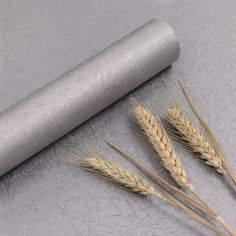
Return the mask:
<svg viewBox="0 0 236 236">
<path fill-rule="evenodd" d="M 178 131 L 181 138 L 198 157 L 209 166 L 214 167 L 219 173 L 225 172 L 220 156 L 210 141 L 195 127 L 178 106 L 167 109 L 166 117 Z"/>
</svg>

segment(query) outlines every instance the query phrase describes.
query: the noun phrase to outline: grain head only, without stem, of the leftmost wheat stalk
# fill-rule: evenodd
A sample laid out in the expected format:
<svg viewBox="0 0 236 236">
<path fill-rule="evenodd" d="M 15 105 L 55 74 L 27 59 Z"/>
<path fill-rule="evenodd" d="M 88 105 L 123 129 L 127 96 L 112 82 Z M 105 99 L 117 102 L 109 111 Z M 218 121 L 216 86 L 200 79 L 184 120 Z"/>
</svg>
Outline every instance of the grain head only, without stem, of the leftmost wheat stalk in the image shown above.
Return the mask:
<svg viewBox="0 0 236 236">
<path fill-rule="evenodd" d="M 86 158 L 75 159 L 73 164 L 77 164 L 88 171 L 101 175 L 115 185 L 130 190 L 131 192 L 164 199 L 155 187 L 138 175 L 138 173 L 124 170 L 113 161 L 97 153 Z"/>
</svg>

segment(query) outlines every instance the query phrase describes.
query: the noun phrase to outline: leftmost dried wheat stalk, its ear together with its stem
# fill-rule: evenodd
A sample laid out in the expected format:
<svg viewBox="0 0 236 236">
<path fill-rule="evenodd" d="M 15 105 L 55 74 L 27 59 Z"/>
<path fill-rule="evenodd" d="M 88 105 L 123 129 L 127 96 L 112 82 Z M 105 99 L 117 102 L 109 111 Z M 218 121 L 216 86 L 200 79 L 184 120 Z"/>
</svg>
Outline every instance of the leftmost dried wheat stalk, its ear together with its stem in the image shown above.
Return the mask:
<svg viewBox="0 0 236 236">
<path fill-rule="evenodd" d="M 215 225 L 206 221 L 201 215 L 193 211 L 191 208 L 185 206 L 178 199 L 171 196 L 163 189 L 159 188 L 158 186 L 155 188 L 153 184 L 142 178 L 136 172 L 124 170 L 115 162 L 107 159 L 104 156 L 101 156 L 98 153 L 93 153 L 93 155 L 82 159 L 80 157 L 71 159 L 69 163 L 72 165 L 79 165 L 85 170 L 104 176 L 112 183 L 125 188 L 126 190 L 144 196 L 157 197 L 159 199 L 167 201 L 169 204 L 185 212 L 185 214 L 203 224 L 204 226 L 215 232 L 217 235 L 222 235 L 220 231 L 215 227 Z"/>
</svg>

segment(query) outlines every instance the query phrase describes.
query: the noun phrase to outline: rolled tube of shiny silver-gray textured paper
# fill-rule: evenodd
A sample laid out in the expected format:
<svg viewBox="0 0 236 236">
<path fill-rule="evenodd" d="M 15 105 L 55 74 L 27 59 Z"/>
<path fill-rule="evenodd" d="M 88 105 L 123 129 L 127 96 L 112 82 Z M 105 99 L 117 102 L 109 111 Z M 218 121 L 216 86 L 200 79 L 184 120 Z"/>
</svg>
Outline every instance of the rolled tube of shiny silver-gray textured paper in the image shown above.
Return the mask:
<svg viewBox="0 0 236 236">
<path fill-rule="evenodd" d="M 174 31 L 151 20 L 0 114 L 0 175 L 124 96 L 179 56 Z"/>
</svg>

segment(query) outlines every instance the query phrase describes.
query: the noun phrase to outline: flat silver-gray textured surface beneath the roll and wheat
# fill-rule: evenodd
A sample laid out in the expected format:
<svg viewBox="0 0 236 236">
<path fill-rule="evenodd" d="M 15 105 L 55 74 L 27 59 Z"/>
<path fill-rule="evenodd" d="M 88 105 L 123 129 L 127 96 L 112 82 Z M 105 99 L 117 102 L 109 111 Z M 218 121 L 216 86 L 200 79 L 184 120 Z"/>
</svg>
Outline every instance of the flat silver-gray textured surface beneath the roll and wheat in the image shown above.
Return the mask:
<svg viewBox="0 0 236 236">
<path fill-rule="evenodd" d="M 176 31 L 181 56 L 138 88 L 155 107 L 168 100 L 165 84 L 182 79 L 236 170 L 235 1 L 0 1 L 0 110 L 35 91 L 151 18 Z M 161 95 L 159 95 L 161 94 Z M 123 98 L 73 132 L 127 165 L 104 143 L 111 140 L 157 169 L 150 147 Z M 162 202 L 149 202 L 66 166 L 64 138 L 0 179 L 0 235 L 211 235 Z M 64 151 L 63 151 L 64 148 Z M 236 227 L 235 195 L 199 161 L 181 155 L 191 181 Z"/>
</svg>

